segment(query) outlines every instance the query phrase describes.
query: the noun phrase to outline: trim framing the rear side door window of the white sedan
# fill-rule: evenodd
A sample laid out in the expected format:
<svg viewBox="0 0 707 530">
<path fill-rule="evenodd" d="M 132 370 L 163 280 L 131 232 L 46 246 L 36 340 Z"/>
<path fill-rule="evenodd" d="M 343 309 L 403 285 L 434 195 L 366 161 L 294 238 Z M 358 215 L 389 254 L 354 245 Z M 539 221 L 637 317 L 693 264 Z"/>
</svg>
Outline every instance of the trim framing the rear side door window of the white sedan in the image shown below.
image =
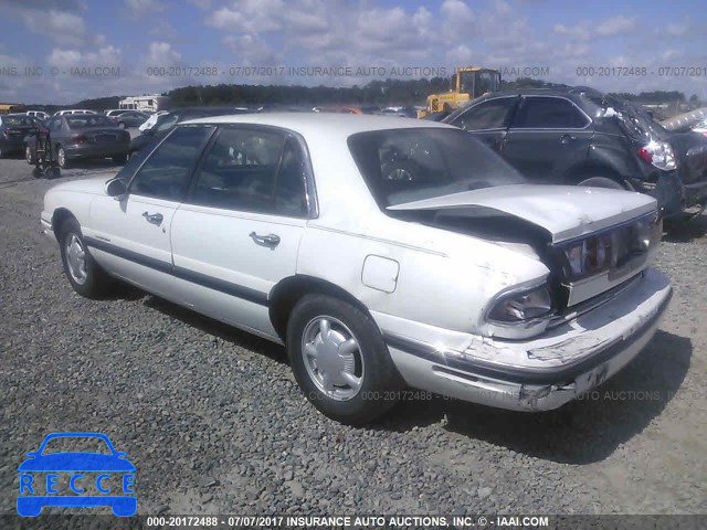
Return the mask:
<svg viewBox="0 0 707 530">
<path fill-rule="evenodd" d="M 199 124 L 199 125 L 209 125 L 209 124 Z M 299 135 L 298 132 L 295 132 L 294 130 L 284 128 L 284 127 L 276 127 L 276 126 L 272 126 L 272 125 L 262 125 L 262 124 L 214 124 L 218 127 L 218 131 L 211 137 L 211 139 L 209 140 L 209 144 L 207 144 L 207 146 L 203 149 L 202 156 L 199 160 L 199 163 L 197 165 L 197 167 L 194 168 L 194 171 L 191 176 L 191 182 L 189 184 L 189 189 L 187 191 L 187 195 L 184 198 L 184 200 L 182 201 L 184 204 L 191 204 L 194 206 L 201 206 L 201 208 L 212 208 L 215 210 L 228 210 L 231 212 L 243 212 L 243 213 L 256 213 L 256 214 L 262 214 L 262 215 L 274 215 L 274 216 L 281 216 L 281 218 L 288 218 L 288 219 L 305 219 L 305 220 L 310 220 L 310 219 L 317 219 L 319 216 L 319 206 L 318 206 L 318 201 L 317 201 L 317 194 L 316 194 L 316 187 L 315 187 L 315 179 L 314 179 L 314 169 L 312 167 L 312 157 L 309 156 L 309 149 L 307 148 L 307 142 L 305 141 L 305 139 L 302 137 L 302 135 Z M 176 127 L 175 127 L 176 128 Z M 279 177 L 279 167 L 282 163 L 282 157 L 285 150 L 285 145 L 287 144 L 288 139 L 293 139 L 297 142 L 299 149 L 302 150 L 303 156 L 305 157 L 305 169 L 306 169 L 306 176 L 305 176 L 305 200 L 307 201 L 307 213 L 304 215 L 287 215 L 285 213 L 281 213 L 281 212 L 263 212 L 260 210 L 249 210 L 249 209 L 244 209 L 244 208 L 222 208 L 222 206 L 214 206 L 211 204 L 200 204 L 198 202 L 192 201 L 192 195 L 193 195 L 193 190 L 197 183 L 197 176 L 198 172 L 201 171 L 202 167 L 203 167 L 203 162 L 205 160 L 205 157 L 208 155 L 208 152 L 211 151 L 211 149 L 213 148 L 213 144 L 215 144 L 215 141 L 218 140 L 218 136 L 221 136 L 221 132 L 224 129 L 240 129 L 240 130 L 253 130 L 253 131 L 266 131 L 266 132 L 277 132 L 279 135 L 282 135 L 284 137 L 284 142 L 283 142 L 283 151 L 279 153 L 279 160 L 277 162 L 277 172 L 275 174 L 275 188 L 277 187 L 277 178 Z"/>
</svg>

